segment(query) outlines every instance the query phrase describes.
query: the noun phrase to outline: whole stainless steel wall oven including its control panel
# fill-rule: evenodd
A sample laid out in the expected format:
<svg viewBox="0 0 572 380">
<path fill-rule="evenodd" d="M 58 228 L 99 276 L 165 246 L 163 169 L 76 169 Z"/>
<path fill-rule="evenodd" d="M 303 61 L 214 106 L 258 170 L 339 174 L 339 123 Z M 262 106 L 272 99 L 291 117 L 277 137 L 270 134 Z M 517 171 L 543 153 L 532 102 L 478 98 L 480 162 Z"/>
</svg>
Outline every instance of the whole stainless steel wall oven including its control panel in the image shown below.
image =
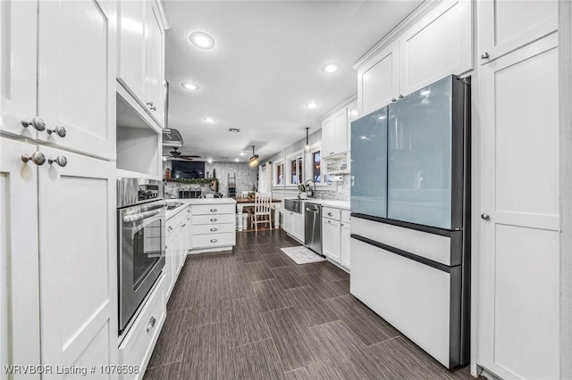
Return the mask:
<svg viewBox="0 0 572 380">
<path fill-rule="evenodd" d="M 161 181 L 153 179 L 117 180 L 120 334 L 130 325 L 164 268 L 163 191 Z"/>
</svg>

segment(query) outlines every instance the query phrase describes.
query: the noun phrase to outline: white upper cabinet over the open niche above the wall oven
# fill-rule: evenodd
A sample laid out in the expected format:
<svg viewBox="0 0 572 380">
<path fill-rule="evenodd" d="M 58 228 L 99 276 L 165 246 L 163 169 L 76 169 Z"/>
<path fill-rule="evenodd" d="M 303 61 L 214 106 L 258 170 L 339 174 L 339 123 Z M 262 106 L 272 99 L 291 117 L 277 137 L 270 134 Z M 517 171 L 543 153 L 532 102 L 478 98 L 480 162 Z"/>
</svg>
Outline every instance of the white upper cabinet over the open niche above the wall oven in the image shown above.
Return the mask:
<svg viewBox="0 0 572 380">
<path fill-rule="evenodd" d="M 119 3 L 117 79 L 164 127 L 164 19 L 153 1 Z"/>
</svg>

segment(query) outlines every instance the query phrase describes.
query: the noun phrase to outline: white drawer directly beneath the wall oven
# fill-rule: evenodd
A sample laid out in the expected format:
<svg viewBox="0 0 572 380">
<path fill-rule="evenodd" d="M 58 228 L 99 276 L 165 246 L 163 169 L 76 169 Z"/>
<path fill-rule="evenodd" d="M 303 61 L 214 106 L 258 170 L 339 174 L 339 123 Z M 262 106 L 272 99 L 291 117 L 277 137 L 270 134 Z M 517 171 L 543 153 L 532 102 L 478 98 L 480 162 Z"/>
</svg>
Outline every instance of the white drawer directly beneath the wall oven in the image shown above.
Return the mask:
<svg viewBox="0 0 572 380">
<path fill-rule="evenodd" d="M 129 333 L 119 346 L 121 365 L 139 366 L 139 374 L 125 374 L 123 379 L 143 378 L 148 360 L 155 348 L 159 332 L 166 316 L 164 276 L 159 278 L 155 290 L 147 299 L 143 310 L 131 326 Z"/>
</svg>

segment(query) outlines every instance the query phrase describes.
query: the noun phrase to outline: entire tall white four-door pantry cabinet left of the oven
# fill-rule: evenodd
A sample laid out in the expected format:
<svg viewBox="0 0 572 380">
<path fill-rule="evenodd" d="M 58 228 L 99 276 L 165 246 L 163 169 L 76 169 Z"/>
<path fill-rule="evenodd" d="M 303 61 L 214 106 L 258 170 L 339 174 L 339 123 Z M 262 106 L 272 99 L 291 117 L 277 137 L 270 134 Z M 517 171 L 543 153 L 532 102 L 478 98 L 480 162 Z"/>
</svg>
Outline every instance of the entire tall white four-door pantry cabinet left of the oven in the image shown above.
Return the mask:
<svg viewBox="0 0 572 380">
<path fill-rule="evenodd" d="M 0 4 L 0 358 L 42 378 L 115 376 L 115 6 Z"/>
</svg>

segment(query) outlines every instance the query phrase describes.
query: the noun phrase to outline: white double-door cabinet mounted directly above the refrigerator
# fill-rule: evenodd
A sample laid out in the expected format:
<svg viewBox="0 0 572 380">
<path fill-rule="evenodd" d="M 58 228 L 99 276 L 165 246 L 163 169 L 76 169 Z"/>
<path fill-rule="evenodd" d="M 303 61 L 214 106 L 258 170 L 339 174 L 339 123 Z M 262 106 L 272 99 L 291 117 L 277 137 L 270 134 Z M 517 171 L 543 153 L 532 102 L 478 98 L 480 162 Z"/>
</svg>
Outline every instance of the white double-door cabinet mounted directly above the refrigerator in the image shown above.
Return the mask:
<svg viewBox="0 0 572 380">
<path fill-rule="evenodd" d="M 361 115 L 447 75 L 473 69 L 473 14 L 468 0 L 443 1 L 366 62 L 357 64 Z"/>
</svg>

